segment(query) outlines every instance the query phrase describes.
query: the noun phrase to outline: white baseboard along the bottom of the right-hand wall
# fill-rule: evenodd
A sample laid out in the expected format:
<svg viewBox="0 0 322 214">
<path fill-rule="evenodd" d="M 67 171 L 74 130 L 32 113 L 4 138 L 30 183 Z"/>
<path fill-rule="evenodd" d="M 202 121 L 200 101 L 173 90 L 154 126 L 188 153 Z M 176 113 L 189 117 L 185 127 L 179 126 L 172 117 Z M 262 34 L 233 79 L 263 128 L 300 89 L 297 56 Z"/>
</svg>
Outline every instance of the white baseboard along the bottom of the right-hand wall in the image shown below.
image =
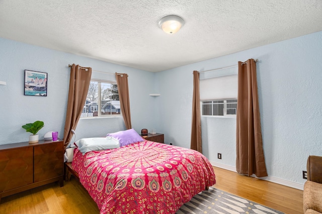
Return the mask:
<svg viewBox="0 0 322 214">
<path fill-rule="evenodd" d="M 213 162 L 213 161 L 210 161 L 210 163 L 211 163 L 211 165 L 213 165 L 215 167 L 236 172 L 236 168 L 234 166 L 228 166 L 228 165 L 221 164 L 221 163 L 216 163 L 216 162 Z M 252 177 L 256 177 L 256 176 L 253 175 Z M 296 182 L 289 181 L 289 180 L 284 180 L 284 179 L 281 179 L 281 178 L 278 178 L 278 177 L 267 176 L 267 177 L 257 177 L 257 178 L 262 179 L 262 180 L 267 180 L 267 181 L 270 181 L 270 182 L 273 182 L 273 183 L 278 183 L 278 184 L 281 184 L 281 185 L 284 185 L 284 186 L 292 187 L 292 188 L 295 188 L 295 189 L 303 190 L 303 188 L 304 188 L 304 184 L 296 183 Z"/>
</svg>

